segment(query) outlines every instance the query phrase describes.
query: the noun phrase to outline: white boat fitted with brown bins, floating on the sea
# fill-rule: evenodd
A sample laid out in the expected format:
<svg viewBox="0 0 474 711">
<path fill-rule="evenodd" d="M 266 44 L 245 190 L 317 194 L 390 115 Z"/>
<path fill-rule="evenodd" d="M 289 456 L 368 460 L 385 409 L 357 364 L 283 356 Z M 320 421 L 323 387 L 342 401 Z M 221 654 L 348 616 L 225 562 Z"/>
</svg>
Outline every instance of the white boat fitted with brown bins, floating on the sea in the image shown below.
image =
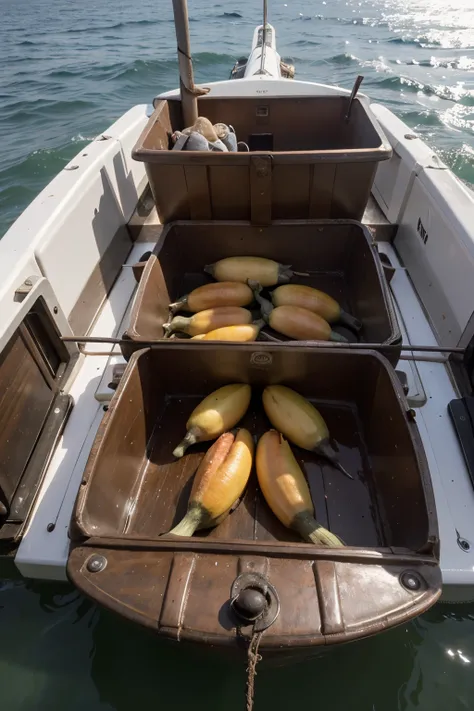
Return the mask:
<svg viewBox="0 0 474 711">
<path fill-rule="evenodd" d="M 187 42 L 185 3 L 174 5 L 178 43 Z M 69 579 L 100 604 L 167 638 L 232 648 L 263 632 L 264 655 L 320 651 L 405 622 L 438 599 L 474 599 L 473 192 L 389 109 L 370 104 L 358 86 L 351 95 L 293 78 L 266 16 L 248 60 L 234 67 L 230 79 L 194 87 L 189 55 L 180 53 L 180 89 L 161 94 L 153 105 L 132 107 L 99 135 L 1 241 L 2 556 L 25 578 Z M 268 165 L 278 163 L 272 126 L 278 124 L 284 140 L 289 115 L 279 107 L 314 111 L 316 100 L 336 102 L 344 115 L 365 112 L 370 130 L 382 136 L 377 150 L 385 160 L 367 167 L 366 158 L 365 182 L 354 173 L 352 182 L 350 176 L 342 181 L 345 191 L 326 196 L 326 209 L 332 209 L 331 200 L 342 205 L 338 219 L 295 217 L 301 182 L 286 179 L 276 204 L 275 188 L 268 187 Z M 242 165 L 249 161 L 256 185 L 264 186 L 251 185 L 256 208 L 250 220 L 238 201 L 229 206 L 201 199 L 198 154 L 197 172 L 189 171 L 186 184 L 194 184 L 194 201 L 191 195 L 184 215 L 182 202 L 173 199 L 182 193 L 176 192 L 172 169 L 185 152 L 175 153 L 168 172 L 159 166 L 165 178 L 150 162 L 133 158 L 142 149 L 146 154 L 144 141 L 165 113 L 176 122 L 192 101 L 200 110 L 231 106 L 235 112 L 251 105 L 265 127 L 249 137 L 248 153 L 235 154 Z M 170 107 L 178 112 L 174 119 Z M 227 115 L 225 120 L 230 123 Z M 353 157 L 337 141 L 320 149 L 334 151 L 339 161 Z M 375 149 L 360 150 L 372 155 Z M 172 151 L 166 146 L 164 153 Z M 262 156 L 270 156 L 269 162 L 258 163 Z M 212 166 L 226 157 L 212 154 Z M 241 164 L 236 170 L 242 176 Z M 320 209 L 317 202 L 316 215 Z M 358 211 L 360 221 L 353 217 Z M 201 343 L 190 351 L 179 339 L 154 339 L 140 330 L 140 323 L 150 321 L 143 309 L 147 295 L 156 292 L 153 280 L 160 273 L 166 282 L 163 270 L 171 269 L 170 250 L 161 251 L 170 231 L 188 244 L 198 235 L 204 244 L 219 220 L 229 234 L 235 228 L 225 221 L 240 220 L 238 229 L 252 233 L 255 244 L 260 221 L 269 220 L 268 230 L 280 235 L 280 243 L 285 235 L 285 249 L 304 230 L 324 235 L 338 224 L 347 240 L 356 225 L 378 285 L 385 335 L 382 329 L 376 343 L 342 348 L 270 340 L 237 347 Z M 292 220 L 300 220 L 299 226 L 292 227 Z M 242 234 L 230 242 L 245 239 Z M 218 241 L 214 236 L 214 249 Z M 294 259 L 301 262 L 304 255 Z M 316 366 L 324 383 L 336 382 L 331 392 L 317 385 Z M 338 417 L 349 418 L 354 408 L 359 412 L 359 419 L 346 424 L 351 432 L 362 428 L 364 456 L 370 458 L 367 465 L 349 457 L 362 472 L 357 494 L 350 493 L 353 482 L 328 473 L 312 453 L 302 457 L 306 468 L 320 472 L 316 498 L 327 495 L 329 486 L 340 492 L 332 506 L 340 507 L 340 533 L 348 545 L 302 543 L 258 503 L 255 481 L 246 494 L 250 508 L 240 505 L 208 535 L 184 541 L 167 536 L 182 512 L 182 487 L 204 451 L 187 460 L 193 466 L 170 460 L 170 442 L 192 403 L 237 377 L 258 389 L 281 373 L 286 384 L 321 400 L 322 407 L 331 401 Z M 360 382 L 368 384 L 371 402 L 356 387 Z M 206 392 L 202 383 L 208 384 Z M 151 392 L 159 397 L 150 399 Z M 162 440 L 154 426 L 160 408 L 175 408 Z M 377 422 L 384 411 L 393 419 L 381 432 Z M 256 406 L 255 422 L 259 417 Z M 255 426 L 261 433 L 261 425 Z M 155 472 L 149 479 L 147 467 Z M 153 477 L 164 470 L 175 478 L 160 494 Z M 383 471 L 390 472 L 385 481 Z M 331 515 L 338 515 L 336 508 Z M 242 617 L 241 607 L 239 617 L 239 594 L 255 587 L 263 589 L 265 613 L 257 620 L 244 610 Z"/>
</svg>

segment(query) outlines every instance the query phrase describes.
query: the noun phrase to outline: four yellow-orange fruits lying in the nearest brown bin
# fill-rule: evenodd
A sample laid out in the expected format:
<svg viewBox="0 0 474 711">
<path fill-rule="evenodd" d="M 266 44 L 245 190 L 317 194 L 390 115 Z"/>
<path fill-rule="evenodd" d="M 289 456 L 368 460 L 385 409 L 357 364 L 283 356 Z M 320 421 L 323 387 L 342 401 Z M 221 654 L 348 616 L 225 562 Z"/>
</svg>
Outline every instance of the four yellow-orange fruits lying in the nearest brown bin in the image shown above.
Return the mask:
<svg viewBox="0 0 474 711">
<path fill-rule="evenodd" d="M 208 395 L 191 413 L 186 435 L 173 452 L 182 457 L 191 445 L 217 439 L 204 456 L 194 479 L 188 510 L 171 533 L 191 536 L 194 531 L 216 526 L 238 502 L 247 485 L 253 463 L 253 439 L 249 431 L 230 432 L 247 412 L 249 385 L 225 385 Z M 270 385 L 262 396 L 271 424 L 257 446 L 256 469 L 260 489 L 275 516 L 306 540 L 317 545 L 341 546 L 342 541 L 314 518 L 306 478 L 284 437 L 293 444 L 326 457 L 350 476 L 329 442 L 326 423 L 316 408 L 294 390 Z"/>
</svg>

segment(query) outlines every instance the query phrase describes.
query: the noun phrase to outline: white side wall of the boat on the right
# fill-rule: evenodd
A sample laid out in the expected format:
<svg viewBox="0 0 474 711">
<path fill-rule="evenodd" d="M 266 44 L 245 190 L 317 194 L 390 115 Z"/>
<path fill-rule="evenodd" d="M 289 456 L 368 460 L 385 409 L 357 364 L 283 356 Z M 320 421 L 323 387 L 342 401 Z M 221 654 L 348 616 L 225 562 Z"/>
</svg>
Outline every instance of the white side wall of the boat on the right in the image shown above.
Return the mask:
<svg viewBox="0 0 474 711">
<path fill-rule="evenodd" d="M 394 247 L 443 346 L 474 336 L 474 194 L 388 109 L 372 105 L 394 156 L 374 197 L 398 224 Z"/>
</svg>

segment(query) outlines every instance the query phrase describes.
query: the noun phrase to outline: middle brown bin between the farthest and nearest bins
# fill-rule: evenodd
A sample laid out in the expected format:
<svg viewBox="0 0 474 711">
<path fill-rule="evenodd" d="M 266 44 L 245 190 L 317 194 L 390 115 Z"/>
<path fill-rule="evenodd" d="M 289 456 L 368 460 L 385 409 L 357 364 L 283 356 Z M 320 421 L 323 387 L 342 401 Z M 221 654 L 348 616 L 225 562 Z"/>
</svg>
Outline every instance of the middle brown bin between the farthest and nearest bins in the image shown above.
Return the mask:
<svg viewBox="0 0 474 711">
<path fill-rule="evenodd" d="M 293 277 L 292 283 L 325 291 L 361 321 L 362 330 L 357 335 L 334 324 L 334 330 L 349 341 L 401 344 L 388 285 L 370 233 L 360 223 L 348 220 L 281 221 L 268 227 L 247 222 L 167 225 L 143 271 L 127 338 L 162 339 L 163 324 L 169 319 L 168 305 L 212 281 L 203 272 L 204 265 L 239 255 L 268 257 L 291 264 L 295 271 L 310 273 L 308 277 Z M 270 333 L 287 340 L 281 334 Z M 130 352 L 129 348 L 125 350 Z M 386 355 L 396 364 L 400 351 L 387 349 Z"/>
</svg>

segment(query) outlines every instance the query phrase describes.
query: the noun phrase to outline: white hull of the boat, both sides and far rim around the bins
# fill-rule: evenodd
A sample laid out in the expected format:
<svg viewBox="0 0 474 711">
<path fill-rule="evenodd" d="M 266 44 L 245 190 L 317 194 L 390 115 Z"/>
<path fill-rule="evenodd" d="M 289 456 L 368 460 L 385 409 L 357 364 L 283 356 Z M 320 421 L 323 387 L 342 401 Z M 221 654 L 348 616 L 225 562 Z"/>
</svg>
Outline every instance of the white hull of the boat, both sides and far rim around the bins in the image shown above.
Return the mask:
<svg viewBox="0 0 474 711">
<path fill-rule="evenodd" d="M 249 67 L 258 66 L 255 48 L 253 52 Z M 279 56 L 274 47 L 268 54 L 268 67 L 275 72 Z M 281 79 L 279 73 L 255 75 L 249 70 L 249 75 L 243 80 L 207 86 L 211 96 L 348 93 L 338 87 Z M 163 96 L 177 98 L 178 93 Z M 411 130 L 390 111 L 377 106 L 374 111 L 394 150 L 393 158 L 379 168 L 373 194 L 385 215 L 384 221 L 399 224 L 393 244 L 381 242 L 379 248 L 395 268 L 391 291 L 404 342 L 465 344 L 472 337 L 474 323 L 473 194 L 433 157 L 420 139 L 407 139 Z M 22 308 L 15 302 L 15 290 L 31 276 L 41 281 L 51 308 L 57 308 L 55 320 L 60 333 L 72 333 L 71 319 L 78 299 L 117 231 L 130 221 L 146 185 L 143 164 L 132 161 L 131 149 L 147 116 L 145 105 L 134 107 L 83 149 L 2 240 L 0 347 L 21 318 L 22 309 L 28 306 L 30 297 L 22 302 Z M 425 243 L 418 220 L 429 234 Z M 130 240 L 125 257 L 128 265 L 153 246 L 156 230 L 143 232 L 153 234 L 151 244 Z M 65 255 L 74 265 L 67 273 Z M 463 275 L 462 284 L 459 275 Z M 125 330 L 134 289 L 132 270 L 125 266 L 101 304 L 90 335 L 115 336 Z M 107 385 L 112 365 L 123 362 L 117 351 L 112 356 L 97 354 L 107 351 L 104 346 L 88 346 L 87 350 L 89 354 L 80 356 L 66 384 L 75 407 L 15 557 L 16 566 L 25 577 L 66 579 L 71 512 L 104 403 L 113 394 Z M 447 411 L 450 400 L 458 397 L 456 386 L 442 359 L 436 363 L 401 361 L 400 369 L 407 372 L 408 398 L 416 410 L 433 480 L 443 598 L 449 602 L 472 600 L 474 489 Z M 460 539 L 468 542 L 468 550 L 461 547 Z"/>
</svg>

